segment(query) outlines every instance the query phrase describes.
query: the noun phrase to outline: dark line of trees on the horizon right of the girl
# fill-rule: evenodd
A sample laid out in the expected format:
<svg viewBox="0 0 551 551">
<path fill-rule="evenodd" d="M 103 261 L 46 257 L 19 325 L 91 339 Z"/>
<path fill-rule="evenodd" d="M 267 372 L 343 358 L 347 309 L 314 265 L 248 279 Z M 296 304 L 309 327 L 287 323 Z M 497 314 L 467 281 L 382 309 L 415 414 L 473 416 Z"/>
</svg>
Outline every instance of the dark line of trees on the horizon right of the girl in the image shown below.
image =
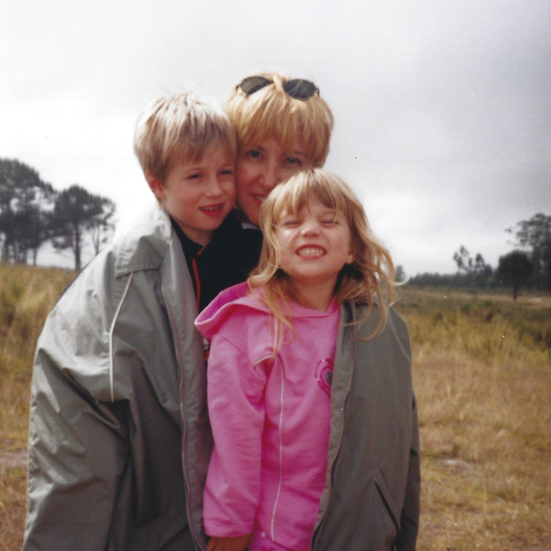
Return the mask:
<svg viewBox="0 0 551 551">
<path fill-rule="evenodd" d="M 462 245 L 453 255 L 455 274 L 423 273 L 407 282 L 421 287 L 512 289 L 516 299 L 521 287 L 551 291 L 551 216 L 535 214 L 505 231 L 515 236 L 515 250 L 499 258 L 492 268 L 478 253 L 474 258 Z M 401 271 L 403 273 L 403 271 Z M 405 278 L 404 278 L 405 279 Z"/>
</svg>

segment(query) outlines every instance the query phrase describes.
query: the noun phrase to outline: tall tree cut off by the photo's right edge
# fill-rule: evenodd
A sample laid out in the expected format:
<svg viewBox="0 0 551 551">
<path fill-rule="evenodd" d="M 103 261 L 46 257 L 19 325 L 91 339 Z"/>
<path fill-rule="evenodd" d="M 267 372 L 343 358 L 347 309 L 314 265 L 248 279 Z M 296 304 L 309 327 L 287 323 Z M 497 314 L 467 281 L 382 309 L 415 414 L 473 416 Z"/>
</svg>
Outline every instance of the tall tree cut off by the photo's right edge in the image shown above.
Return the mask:
<svg viewBox="0 0 551 551">
<path fill-rule="evenodd" d="M 509 233 L 513 229 L 509 228 Z M 551 216 L 538 213 L 517 224 L 517 244 L 531 250 L 534 287 L 551 291 Z"/>
</svg>

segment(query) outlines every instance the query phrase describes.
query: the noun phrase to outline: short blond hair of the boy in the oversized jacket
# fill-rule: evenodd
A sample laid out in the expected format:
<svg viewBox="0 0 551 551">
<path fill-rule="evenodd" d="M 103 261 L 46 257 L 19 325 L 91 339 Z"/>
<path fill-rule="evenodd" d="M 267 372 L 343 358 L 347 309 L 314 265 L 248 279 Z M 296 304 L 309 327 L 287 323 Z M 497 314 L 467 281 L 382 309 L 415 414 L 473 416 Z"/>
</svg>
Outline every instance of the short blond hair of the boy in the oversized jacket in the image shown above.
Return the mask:
<svg viewBox="0 0 551 551">
<path fill-rule="evenodd" d="M 152 102 L 136 123 L 134 153 L 144 175 L 161 182 L 174 160 L 196 163 L 207 149 L 217 146 L 235 159 L 237 141 L 228 116 L 190 94 Z"/>
</svg>

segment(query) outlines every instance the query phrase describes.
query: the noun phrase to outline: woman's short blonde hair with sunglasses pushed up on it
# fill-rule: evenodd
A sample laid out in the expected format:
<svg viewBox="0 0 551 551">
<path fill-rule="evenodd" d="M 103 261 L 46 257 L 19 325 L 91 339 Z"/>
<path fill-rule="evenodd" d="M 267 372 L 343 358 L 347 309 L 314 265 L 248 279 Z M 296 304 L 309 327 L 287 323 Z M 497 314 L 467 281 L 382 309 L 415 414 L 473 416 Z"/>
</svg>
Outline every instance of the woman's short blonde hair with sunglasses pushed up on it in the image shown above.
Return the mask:
<svg viewBox="0 0 551 551">
<path fill-rule="evenodd" d="M 293 142 L 300 135 L 312 166 L 323 166 L 329 153 L 333 115 L 326 102 L 316 93 L 311 98 L 291 98 L 283 90 L 290 80 L 279 73 L 255 73 L 272 84 L 247 95 L 236 85 L 226 104 L 226 112 L 237 133 L 239 149 L 257 147 L 273 138 L 294 156 Z"/>
</svg>

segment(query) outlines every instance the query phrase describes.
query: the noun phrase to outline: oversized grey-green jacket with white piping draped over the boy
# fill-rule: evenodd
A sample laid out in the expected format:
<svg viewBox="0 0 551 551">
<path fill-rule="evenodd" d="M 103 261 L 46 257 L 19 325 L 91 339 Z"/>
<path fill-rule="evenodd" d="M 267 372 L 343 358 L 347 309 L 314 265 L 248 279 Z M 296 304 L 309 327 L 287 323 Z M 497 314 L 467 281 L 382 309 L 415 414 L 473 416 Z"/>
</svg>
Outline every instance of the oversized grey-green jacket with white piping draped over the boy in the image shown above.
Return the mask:
<svg viewBox="0 0 551 551">
<path fill-rule="evenodd" d="M 24 551 L 204 547 L 212 437 L 196 316 L 158 208 L 57 302 L 35 357 Z"/>
</svg>

